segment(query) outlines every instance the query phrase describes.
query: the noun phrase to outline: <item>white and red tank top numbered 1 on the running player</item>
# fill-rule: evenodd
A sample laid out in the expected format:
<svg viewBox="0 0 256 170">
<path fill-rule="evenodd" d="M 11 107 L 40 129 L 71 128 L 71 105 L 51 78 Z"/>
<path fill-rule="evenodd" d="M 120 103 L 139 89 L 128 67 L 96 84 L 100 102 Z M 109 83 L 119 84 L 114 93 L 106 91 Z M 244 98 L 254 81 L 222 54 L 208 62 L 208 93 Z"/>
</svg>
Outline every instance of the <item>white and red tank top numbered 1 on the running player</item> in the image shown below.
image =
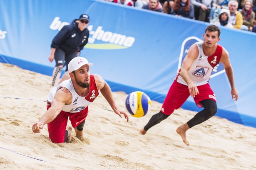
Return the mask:
<svg viewBox="0 0 256 170">
<path fill-rule="evenodd" d="M 189 75 L 196 86 L 205 85 L 209 82 L 212 70 L 219 64 L 222 55 L 222 46 L 219 44 L 217 44 L 214 54 L 211 56 L 204 55 L 203 43 L 204 42 L 195 43 L 198 47 L 199 54 L 189 69 Z M 181 69 L 179 69 L 179 72 L 180 70 Z M 174 80 L 183 85 L 188 85 L 179 73 Z"/>
</svg>

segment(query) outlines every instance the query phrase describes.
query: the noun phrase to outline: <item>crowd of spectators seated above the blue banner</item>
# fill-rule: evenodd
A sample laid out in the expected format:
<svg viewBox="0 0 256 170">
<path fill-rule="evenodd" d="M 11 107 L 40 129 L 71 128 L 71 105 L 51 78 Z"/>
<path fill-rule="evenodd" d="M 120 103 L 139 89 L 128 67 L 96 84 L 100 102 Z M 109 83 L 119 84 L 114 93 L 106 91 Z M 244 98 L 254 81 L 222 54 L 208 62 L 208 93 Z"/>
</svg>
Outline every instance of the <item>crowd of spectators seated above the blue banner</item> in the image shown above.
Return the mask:
<svg viewBox="0 0 256 170">
<path fill-rule="evenodd" d="M 256 0 L 105 0 L 256 32 Z"/>
</svg>

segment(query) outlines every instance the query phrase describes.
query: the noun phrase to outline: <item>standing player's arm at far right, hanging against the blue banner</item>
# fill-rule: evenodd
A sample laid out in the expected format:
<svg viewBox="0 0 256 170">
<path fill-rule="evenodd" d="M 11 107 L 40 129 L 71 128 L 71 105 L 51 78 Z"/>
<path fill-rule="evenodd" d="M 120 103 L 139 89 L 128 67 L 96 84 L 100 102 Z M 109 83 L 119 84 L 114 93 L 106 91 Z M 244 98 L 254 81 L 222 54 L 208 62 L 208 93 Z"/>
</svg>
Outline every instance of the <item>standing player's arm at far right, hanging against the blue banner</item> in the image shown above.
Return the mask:
<svg viewBox="0 0 256 170">
<path fill-rule="evenodd" d="M 237 101 L 238 100 L 238 91 L 236 90 L 235 83 L 234 83 L 233 68 L 229 61 L 229 53 L 224 48 L 222 51 L 220 62 L 223 64 L 225 71 L 226 71 L 226 75 L 228 76 L 228 79 L 229 79 L 229 83 L 231 86 L 232 99 Z"/>
</svg>

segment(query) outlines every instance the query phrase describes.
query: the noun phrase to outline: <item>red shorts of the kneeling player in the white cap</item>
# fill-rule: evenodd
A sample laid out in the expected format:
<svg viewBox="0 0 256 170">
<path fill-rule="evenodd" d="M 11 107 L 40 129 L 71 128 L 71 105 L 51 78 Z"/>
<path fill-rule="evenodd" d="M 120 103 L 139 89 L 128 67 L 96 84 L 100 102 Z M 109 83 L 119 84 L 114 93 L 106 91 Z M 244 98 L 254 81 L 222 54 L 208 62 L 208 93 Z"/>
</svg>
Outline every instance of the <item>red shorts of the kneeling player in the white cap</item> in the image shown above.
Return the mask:
<svg viewBox="0 0 256 170">
<path fill-rule="evenodd" d="M 47 110 L 50 107 L 47 105 Z M 52 143 L 63 143 L 65 141 L 65 131 L 67 128 L 68 117 L 73 127 L 77 127 L 82 123 L 88 114 L 88 107 L 77 113 L 69 113 L 61 111 L 57 117 L 47 124 L 49 138 Z"/>
</svg>

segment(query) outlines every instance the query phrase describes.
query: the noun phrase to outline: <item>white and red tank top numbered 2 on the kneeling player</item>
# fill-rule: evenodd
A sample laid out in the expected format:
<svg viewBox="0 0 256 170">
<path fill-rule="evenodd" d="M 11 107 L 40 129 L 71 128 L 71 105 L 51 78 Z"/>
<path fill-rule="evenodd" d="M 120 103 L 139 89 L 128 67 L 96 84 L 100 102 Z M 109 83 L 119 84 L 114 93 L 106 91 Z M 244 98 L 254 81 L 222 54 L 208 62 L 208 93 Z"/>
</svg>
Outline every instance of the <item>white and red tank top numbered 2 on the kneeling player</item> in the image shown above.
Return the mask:
<svg viewBox="0 0 256 170">
<path fill-rule="evenodd" d="M 99 95 L 93 75 L 90 76 L 89 93 L 86 97 L 81 97 L 77 94 L 77 92 L 74 89 L 74 86 L 72 85 L 71 79 L 69 79 L 63 81 L 60 85 L 58 85 L 50 91 L 49 95 L 47 96 L 48 105 L 51 105 L 52 100 L 57 90 L 60 89 L 60 87 L 65 87 L 72 93 L 72 103 L 64 105 L 64 107 L 62 108 L 62 111 L 64 112 L 80 112 L 81 110 L 85 109 L 89 104 L 91 104 L 93 100 Z"/>
</svg>

